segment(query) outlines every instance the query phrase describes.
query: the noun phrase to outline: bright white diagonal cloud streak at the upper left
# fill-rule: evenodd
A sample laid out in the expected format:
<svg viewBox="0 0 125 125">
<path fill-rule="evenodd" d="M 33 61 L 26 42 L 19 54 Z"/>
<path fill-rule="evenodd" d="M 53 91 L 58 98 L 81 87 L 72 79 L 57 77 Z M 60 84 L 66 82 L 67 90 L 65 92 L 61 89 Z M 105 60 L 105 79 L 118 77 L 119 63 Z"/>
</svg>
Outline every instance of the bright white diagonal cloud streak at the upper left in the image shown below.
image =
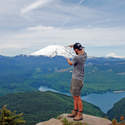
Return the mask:
<svg viewBox="0 0 125 125">
<path fill-rule="evenodd" d="M 52 0 L 37 0 L 36 2 L 30 4 L 29 6 L 23 8 L 21 10 L 21 14 L 25 14 L 29 11 L 32 11 L 36 8 L 39 8 L 39 7 L 43 7 L 44 5 L 46 5 L 47 3 L 51 2 Z"/>
</svg>

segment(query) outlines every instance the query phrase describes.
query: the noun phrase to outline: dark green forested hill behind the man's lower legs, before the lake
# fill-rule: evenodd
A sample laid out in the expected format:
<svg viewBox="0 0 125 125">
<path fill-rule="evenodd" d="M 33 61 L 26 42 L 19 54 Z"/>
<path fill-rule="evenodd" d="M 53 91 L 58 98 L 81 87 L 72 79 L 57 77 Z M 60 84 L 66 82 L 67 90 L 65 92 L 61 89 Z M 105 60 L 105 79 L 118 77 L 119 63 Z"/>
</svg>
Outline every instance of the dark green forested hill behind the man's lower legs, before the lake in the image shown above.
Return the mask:
<svg viewBox="0 0 125 125">
<path fill-rule="evenodd" d="M 105 114 L 96 106 L 83 102 L 84 113 L 94 116 Z M 7 105 L 7 108 L 17 113 L 24 113 L 26 125 L 56 117 L 61 113 L 71 112 L 73 109 L 72 97 L 52 92 L 29 92 L 16 93 L 0 97 L 0 108 Z"/>
</svg>

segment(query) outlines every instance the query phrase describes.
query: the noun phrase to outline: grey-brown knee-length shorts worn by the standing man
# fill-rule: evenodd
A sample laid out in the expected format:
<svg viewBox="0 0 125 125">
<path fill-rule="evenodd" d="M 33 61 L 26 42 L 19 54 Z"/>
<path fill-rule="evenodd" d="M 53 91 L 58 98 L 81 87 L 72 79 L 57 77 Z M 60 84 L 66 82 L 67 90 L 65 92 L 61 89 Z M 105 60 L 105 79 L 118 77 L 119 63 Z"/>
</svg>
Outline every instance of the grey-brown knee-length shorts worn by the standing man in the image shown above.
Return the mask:
<svg viewBox="0 0 125 125">
<path fill-rule="evenodd" d="M 82 87 L 83 87 L 82 80 L 72 78 L 70 86 L 70 91 L 72 96 L 80 96 Z"/>
</svg>

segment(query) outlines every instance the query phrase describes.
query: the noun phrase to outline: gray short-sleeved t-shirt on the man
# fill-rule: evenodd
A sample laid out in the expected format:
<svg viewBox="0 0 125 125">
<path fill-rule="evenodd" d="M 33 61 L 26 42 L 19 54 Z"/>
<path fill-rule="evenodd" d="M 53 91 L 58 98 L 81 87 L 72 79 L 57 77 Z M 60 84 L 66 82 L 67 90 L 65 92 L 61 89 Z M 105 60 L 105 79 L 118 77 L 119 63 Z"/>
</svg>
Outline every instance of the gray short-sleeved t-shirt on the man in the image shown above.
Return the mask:
<svg viewBox="0 0 125 125">
<path fill-rule="evenodd" d="M 72 72 L 72 78 L 83 80 L 84 78 L 84 64 L 87 59 L 87 53 L 84 52 L 83 55 L 77 55 L 73 58 L 73 72 Z"/>
</svg>

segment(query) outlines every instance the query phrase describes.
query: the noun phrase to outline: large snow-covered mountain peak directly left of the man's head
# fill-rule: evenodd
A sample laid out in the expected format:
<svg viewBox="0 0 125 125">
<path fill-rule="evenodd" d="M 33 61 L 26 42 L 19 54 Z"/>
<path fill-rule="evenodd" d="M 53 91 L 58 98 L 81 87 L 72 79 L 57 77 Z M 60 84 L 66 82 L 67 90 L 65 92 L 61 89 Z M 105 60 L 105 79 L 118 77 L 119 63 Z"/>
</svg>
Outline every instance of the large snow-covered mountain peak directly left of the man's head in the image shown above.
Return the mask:
<svg viewBox="0 0 125 125">
<path fill-rule="evenodd" d="M 61 45 L 50 45 L 36 52 L 33 52 L 30 55 L 32 56 L 43 55 L 48 57 L 64 56 L 67 58 L 72 58 L 75 55 L 75 53 L 72 51 L 70 47 L 65 47 Z"/>
</svg>

